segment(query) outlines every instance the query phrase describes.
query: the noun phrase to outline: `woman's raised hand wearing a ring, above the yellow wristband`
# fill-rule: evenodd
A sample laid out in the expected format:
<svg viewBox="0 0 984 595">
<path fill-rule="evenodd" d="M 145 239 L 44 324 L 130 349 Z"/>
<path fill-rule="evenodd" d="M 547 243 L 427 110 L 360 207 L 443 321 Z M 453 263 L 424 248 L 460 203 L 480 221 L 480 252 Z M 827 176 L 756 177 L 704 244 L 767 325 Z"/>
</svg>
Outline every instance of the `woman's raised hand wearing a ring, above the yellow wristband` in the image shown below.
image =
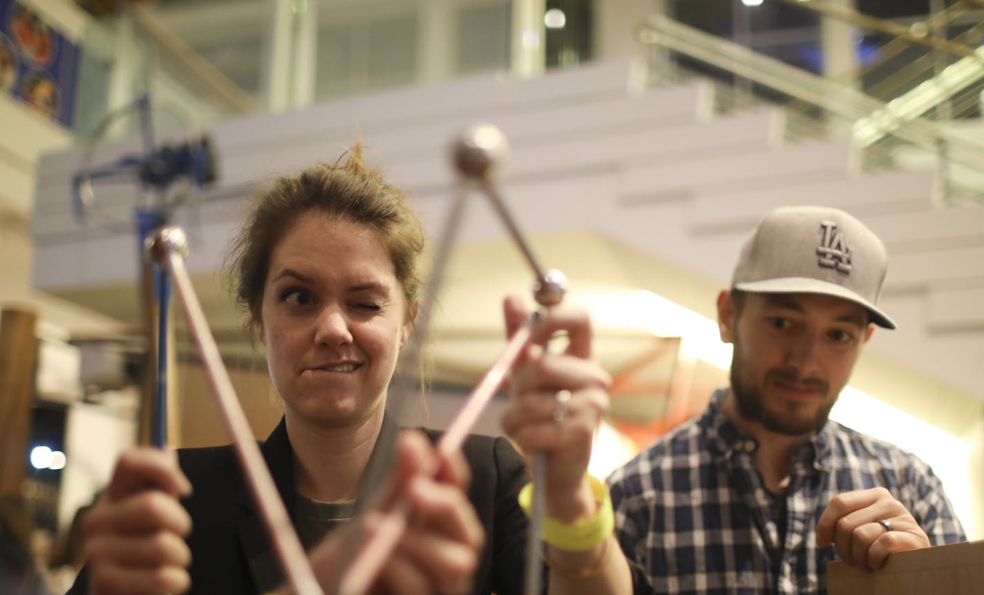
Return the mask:
<svg viewBox="0 0 984 595">
<path fill-rule="evenodd" d="M 529 314 L 517 296 L 506 298 L 504 306 L 512 336 Z M 547 342 L 565 332 L 567 348 L 551 353 Z M 549 309 L 529 343 L 513 368 L 513 396 L 502 426 L 527 457 L 546 455 L 547 515 L 570 522 L 596 507 L 584 475 L 594 432 L 608 409 L 611 377 L 590 359 L 591 326 L 582 310 Z"/>
</svg>

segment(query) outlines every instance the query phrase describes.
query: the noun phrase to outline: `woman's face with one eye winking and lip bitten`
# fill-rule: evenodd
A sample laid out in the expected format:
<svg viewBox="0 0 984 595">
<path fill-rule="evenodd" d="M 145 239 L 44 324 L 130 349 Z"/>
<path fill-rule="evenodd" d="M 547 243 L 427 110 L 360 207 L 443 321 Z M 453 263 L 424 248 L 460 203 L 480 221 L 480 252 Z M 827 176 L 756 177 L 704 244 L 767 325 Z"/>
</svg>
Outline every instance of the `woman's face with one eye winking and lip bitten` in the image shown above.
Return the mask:
<svg viewBox="0 0 984 595">
<path fill-rule="evenodd" d="M 409 332 L 393 262 L 375 231 L 302 215 L 274 248 L 261 339 L 285 413 L 348 426 L 382 414 Z"/>
</svg>

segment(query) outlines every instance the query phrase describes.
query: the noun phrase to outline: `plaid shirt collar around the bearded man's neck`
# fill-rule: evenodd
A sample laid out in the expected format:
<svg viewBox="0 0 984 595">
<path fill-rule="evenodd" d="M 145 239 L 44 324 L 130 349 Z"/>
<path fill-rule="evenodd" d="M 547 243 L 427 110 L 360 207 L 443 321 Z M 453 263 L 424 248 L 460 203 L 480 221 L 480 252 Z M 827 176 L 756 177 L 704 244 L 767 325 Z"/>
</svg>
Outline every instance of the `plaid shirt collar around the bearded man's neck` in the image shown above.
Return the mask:
<svg viewBox="0 0 984 595">
<path fill-rule="evenodd" d="M 727 460 L 735 452 L 755 452 L 759 441 L 753 438 L 724 415 L 722 406 L 728 395 L 728 387 L 720 387 L 710 395 L 707 410 L 698 422 L 707 436 L 707 446 L 715 460 Z M 819 471 L 830 471 L 830 443 L 832 422 L 828 420 L 809 442 L 796 450 L 793 462 L 813 464 Z"/>
</svg>

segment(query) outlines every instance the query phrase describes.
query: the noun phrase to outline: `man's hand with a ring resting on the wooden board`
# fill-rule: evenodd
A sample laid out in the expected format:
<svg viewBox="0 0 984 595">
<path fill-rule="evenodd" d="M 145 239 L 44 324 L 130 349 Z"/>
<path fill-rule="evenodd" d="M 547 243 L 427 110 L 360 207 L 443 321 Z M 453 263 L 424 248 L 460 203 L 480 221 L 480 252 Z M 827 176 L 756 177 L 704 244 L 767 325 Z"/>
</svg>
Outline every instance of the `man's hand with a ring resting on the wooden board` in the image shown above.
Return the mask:
<svg viewBox="0 0 984 595">
<path fill-rule="evenodd" d="M 889 531 L 879 520 L 892 525 Z M 817 523 L 817 545 L 830 543 L 848 565 L 880 568 L 892 552 L 930 547 L 912 514 L 885 488 L 838 494 Z"/>
</svg>

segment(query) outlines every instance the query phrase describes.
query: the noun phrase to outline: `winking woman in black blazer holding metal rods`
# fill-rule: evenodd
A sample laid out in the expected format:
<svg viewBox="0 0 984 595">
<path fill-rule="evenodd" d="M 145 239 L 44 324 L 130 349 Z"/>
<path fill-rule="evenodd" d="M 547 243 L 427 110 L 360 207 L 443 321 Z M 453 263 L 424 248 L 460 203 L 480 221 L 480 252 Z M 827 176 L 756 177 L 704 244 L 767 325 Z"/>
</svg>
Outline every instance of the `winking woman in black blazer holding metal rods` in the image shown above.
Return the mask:
<svg viewBox="0 0 984 595">
<path fill-rule="evenodd" d="M 279 178 L 259 198 L 233 243 L 229 263 L 237 299 L 267 347 L 270 375 L 284 406 L 283 419 L 261 449 L 305 547 L 352 516 L 360 504 L 355 499 L 361 478 L 384 446 L 396 440 L 398 430 L 385 415 L 387 387 L 416 313 L 422 249 L 416 214 L 399 190 L 363 165 L 358 148 L 335 166 L 318 165 Z M 507 301 L 510 328 L 518 327 L 524 316 L 517 300 Z M 627 593 L 628 569 L 610 523 L 605 529 L 604 523 L 595 522 L 610 518 L 610 506 L 607 517 L 598 514 L 597 501 L 604 499 L 584 476 L 609 380 L 587 359 L 590 336 L 584 314 L 548 315 L 534 340 L 545 344 L 558 331 L 570 335 L 566 353 L 542 358 L 526 354 L 515 369 L 516 398 L 504 426 L 521 446 L 543 450 L 550 460 L 547 512 L 559 527 L 547 553 L 550 592 Z M 558 392 L 565 397 L 561 421 L 554 420 Z M 428 434 L 432 441 L 437 437 Z M 464 551 L 477 549 L 480 541 L 468 527 L 480 522 L 485 547 L 477 560 L 473 592 L 519 594 L 527 525 L 517 502 L 526 482 L 523 458 L 505 439 L 478 436 L 466 441 L 462 453 L 473 478 L 468 500 L 474 511 L 463 506 L 468 511 L 449 513 L 451 526 L 434 520 L 421 529 L 411 523 L 424 535 L 404 537 L 403 569 L 410 566 L 423 575 L 424 590 L 464 592 L 457 578 L 442 582 L 435 574 L 447 573 L 448 566 L 452 574 L 461 574 L 468 565 Z M 429 455 L 435 456 L 432 451 Z M 276 559 L 231 448 L 182 450 L 179 459 L 194 486 L 184 500 L 193 526 L 187 541 L 191 588 L 252 593 L 276 585 L 281 580 Z M 451 506 L 463 481 L 461 473 L 449 471 L 444 477 L 443 482 L 421 480 L 420 491 L 441 489 L 442 504 Z M 178 484 L 171 494 L 187 487 Z M 418 496 L 420 510 L 415 512 L 426 516 L 424 508 L 434 503 Z M 588 539 L 569 541 L 565 527 L 575 521 L 594 523 Z M 112 533 L 112 522 L 93 526 L 95 539 Z M 174 521 L 164 526 L 172 535 L 187 529 Z M 415 540 L 425 539 L 443 540 L 447 547 L 412 547 Z M 436 562 L 424 560 L 440 555 L 445 556 Z M 394 560 L 391 566 L 397 564 Z M 183 553 L 170 556 L 169 570 L 181 569 L 184 561 Z M 97 565 L 118 565 L 119 557 L 95 549 L 89 564 L 94 574 Z M 396 586 L 406 584 L 396 581 Z"/>
</svg>

